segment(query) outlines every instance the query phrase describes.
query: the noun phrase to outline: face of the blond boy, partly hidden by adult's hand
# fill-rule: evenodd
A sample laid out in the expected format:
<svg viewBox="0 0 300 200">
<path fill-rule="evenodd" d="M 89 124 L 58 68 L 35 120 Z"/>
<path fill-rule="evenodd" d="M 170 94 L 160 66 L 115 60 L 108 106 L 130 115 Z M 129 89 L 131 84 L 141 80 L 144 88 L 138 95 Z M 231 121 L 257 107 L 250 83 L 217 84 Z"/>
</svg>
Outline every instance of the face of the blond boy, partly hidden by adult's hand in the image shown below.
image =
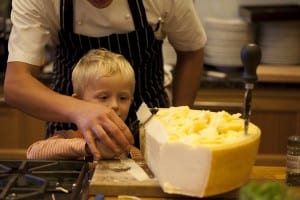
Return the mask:
<svg viewBox="0 0 300 200">
<path fill-rule="evenodd" d="M 115 75 L 90 82 L 82 99 L 110 107 L 125 121 L 133 101 L 132 94 L 130 82 L 122 79 L 119 75 Z"/>
</svg>

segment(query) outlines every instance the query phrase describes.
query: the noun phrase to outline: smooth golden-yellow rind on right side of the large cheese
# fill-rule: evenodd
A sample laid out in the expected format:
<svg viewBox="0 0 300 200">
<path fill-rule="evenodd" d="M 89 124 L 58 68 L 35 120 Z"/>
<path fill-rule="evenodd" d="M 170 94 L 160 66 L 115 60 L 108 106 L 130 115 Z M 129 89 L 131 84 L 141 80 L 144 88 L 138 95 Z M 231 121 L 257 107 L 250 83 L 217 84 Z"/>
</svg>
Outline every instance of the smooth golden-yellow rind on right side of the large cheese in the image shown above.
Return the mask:
<svg viewBox="0 0 300 200">
<path fill-rule="evenodd" d="M 245 184 L 255 163 L 260 134 L 254 134 L 245 141 L 214 149 L 209 181 L 205 196 L 228 192 Z"/>
</svg>

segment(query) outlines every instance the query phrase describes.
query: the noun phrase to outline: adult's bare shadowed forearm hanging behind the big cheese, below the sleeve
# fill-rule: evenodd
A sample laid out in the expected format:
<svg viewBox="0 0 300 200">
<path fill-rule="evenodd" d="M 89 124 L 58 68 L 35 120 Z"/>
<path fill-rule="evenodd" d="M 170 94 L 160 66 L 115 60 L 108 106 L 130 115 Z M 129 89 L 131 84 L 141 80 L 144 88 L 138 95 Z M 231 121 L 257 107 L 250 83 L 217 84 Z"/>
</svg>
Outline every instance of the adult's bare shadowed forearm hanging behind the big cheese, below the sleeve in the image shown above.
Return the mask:
<svg viewBox="0 0 300 200">
<path fill-rule="evenodd" d="M 176 51 L 173 79 L 173 105 L 193 106 L 203 72 L 203 49 Z"/>
</svg>

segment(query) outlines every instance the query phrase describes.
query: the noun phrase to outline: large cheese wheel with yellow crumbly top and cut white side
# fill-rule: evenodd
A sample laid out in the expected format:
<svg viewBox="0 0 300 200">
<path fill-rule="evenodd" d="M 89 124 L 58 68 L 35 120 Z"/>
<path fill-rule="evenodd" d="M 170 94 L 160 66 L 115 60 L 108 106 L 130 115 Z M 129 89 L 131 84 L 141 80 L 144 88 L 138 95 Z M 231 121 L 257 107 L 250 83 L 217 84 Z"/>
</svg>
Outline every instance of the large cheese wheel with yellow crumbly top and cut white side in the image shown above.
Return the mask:
<svg viewBox="0 0 300 200">
<path fill-rule="evenodd" d="M 260 129 L 240 114 L 161 108 L 145 125 L 145 158 L 166 193 L 206 197 L 247 182 Z"/>
</svg>

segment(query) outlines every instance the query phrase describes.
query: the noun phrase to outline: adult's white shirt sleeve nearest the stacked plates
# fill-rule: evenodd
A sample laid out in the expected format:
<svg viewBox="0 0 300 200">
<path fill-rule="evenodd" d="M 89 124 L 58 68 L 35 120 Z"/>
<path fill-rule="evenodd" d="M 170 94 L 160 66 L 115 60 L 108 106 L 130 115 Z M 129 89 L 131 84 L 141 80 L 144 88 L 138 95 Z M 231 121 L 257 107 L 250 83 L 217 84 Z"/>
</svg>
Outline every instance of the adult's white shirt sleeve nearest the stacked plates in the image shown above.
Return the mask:
<svg viewBox="0 0 300 200">
<path fill-rule="evenodd" d="M 203 48 L 206 33 L 192 0 L 165 1 L 166 16 L 162 22 L 162 32 L 172 46 L 180 51 L 193 51 Z"/>
</svg>

